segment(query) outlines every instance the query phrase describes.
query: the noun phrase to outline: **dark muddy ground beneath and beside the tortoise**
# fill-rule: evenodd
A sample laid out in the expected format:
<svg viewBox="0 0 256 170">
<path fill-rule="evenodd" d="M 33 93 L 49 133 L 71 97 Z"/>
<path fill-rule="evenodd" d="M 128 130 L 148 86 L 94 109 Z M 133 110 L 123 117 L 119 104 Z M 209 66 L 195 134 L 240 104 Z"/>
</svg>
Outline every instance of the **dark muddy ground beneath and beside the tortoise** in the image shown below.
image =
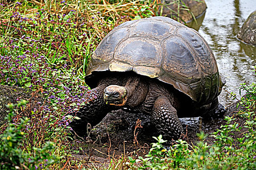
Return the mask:
<svg viewBox="0 0 256 170">
<path fill-rule="evenodd" d="M 239 126 L 242 126 L 245 119 L 236 115 L 241 107 L 236 108 L 236 103 L 234 103 L 226 109 L 227 112 L 224 117 L 235 117 L 236 122 L 240 124 Z M 141 120 L 140 123 L 137 123 L 138 119 Z M 183 140 L 194 145 L 198 141 L 197 133 L 203 131 L 210 135 L 222 124 L 225 124 L 224 119 L 204 120 L 195 118 L 180 120 L 187 132 L 183 136 Z M 200 121 L 202 121 L 201 126 L 199 125 Z M 237 137 L 241 136 L 242 131 L 245 131 L 245 129 L 235 135 Z M 80 149 L 78 154 L 73 155 L 76 159 L 88 160 L 88 166 L 93 163 L 94 166 L 100 167 L 102 163 L 108 166 L 110 158 L 113 156 L 120 158 L 123 155 L 145 155 L 150 149 L 150 144 L 156 142 L 152 136 L 158 136 L 159 134 L 151 123 L 149 116 L 118 110 L 110 112 L 97 126 L 93 127 L 88 135 L 87 137 L 83 136 L 83 142 L 74 140 L 74 149 L 79 147 Z M 205 141 L 212 144 L 214 139 L 208 136 Z"/>
</svg>

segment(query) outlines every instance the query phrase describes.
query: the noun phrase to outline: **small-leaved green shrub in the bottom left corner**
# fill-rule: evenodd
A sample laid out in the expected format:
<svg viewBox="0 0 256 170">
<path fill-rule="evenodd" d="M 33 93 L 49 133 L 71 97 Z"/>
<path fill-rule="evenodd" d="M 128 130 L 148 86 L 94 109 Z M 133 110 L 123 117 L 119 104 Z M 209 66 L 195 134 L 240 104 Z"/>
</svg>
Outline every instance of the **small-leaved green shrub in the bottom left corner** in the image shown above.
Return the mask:
<svg viewBox="0 0 256 170">
<path fill-rule="evenodd" d="M 18 107 L 25 105 L 26 102 L 18 103 Z M 59 156 L 52 154 L 55 150 L 53 142 L 46 142 L 42 148 L 33 148 L 33 154 L 28 154 L 22 149 L 22 141 L 26 137 L 26 126 L 29 122 L 28 118 L 20 119 L 20 123 L 12 123 L 15 116 L 14 106 L 17 104 L 9 104 L 8 126 L 0 135 L 0 169 L 1 170 L 37 170 L 46 169 L 51 164 L 60 160 Z"/>
</svg>

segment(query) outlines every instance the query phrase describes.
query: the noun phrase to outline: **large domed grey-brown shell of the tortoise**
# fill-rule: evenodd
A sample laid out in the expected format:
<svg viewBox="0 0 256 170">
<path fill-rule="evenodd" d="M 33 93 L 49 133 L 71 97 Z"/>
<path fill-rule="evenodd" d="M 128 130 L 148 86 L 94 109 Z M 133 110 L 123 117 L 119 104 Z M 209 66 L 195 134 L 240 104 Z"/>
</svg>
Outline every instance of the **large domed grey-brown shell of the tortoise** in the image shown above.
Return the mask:
<svg viewBox="0 0 256 170">
<path fill-rule="evenodd" d="M 114 28 L 90 59 L 85 81 L 92 88 L 99 71 L 133 71 L 173 85 L 200 103 L 212 102 L 222 85 L 206 41 L 168 17 L 127 21 Z"/>
</svg>

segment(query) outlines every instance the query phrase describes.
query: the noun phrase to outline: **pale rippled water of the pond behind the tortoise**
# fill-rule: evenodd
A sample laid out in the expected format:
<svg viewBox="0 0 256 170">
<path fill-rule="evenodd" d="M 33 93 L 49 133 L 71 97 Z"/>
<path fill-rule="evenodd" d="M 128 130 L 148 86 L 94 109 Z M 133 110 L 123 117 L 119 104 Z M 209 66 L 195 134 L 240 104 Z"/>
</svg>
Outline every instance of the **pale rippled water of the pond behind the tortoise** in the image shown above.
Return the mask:
<svg viewBox="0 0 256 170">
<path fill-rule="evenodd" d="M 226 77 L 224 89 L 239 96 L 241 83 L 256 81 L 256 47 L 236 39 L 236 34 L 247 17 L 256 10 L 256 0 L 205 0 L 204 20 L 199 29 L 212 48 L 219 72 Z M 234 102 L 230 94 L 222 90 L 219 101 L 225 106 Z M 242 93 L 244 94 L 244 93 Z"/>
</svg>

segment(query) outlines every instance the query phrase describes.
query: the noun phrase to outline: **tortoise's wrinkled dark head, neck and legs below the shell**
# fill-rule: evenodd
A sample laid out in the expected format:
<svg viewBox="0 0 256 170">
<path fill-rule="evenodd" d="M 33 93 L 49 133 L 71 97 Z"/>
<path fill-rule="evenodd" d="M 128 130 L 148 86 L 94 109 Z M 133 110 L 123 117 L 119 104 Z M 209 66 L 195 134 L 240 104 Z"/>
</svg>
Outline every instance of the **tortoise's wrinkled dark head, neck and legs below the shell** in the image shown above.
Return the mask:
<svg viewBox="0 0 256 170">
<path fill-rule="evenodd" d="M 79 110 L 79 120 L 71 122 L 81 136 L 86 134 L 87 123 L 94 126 L 111 110 L 123 108 L 150 115 L 159 134 L 167 140 L 177 139 L 184 132 L 178 117 L 208 117 L 218 106 L 217 99 L 207 107 L 197 105 L 172 85 L 135 74 L 106 76 L 91 92 L 97 99 Z"/>
</svg>

